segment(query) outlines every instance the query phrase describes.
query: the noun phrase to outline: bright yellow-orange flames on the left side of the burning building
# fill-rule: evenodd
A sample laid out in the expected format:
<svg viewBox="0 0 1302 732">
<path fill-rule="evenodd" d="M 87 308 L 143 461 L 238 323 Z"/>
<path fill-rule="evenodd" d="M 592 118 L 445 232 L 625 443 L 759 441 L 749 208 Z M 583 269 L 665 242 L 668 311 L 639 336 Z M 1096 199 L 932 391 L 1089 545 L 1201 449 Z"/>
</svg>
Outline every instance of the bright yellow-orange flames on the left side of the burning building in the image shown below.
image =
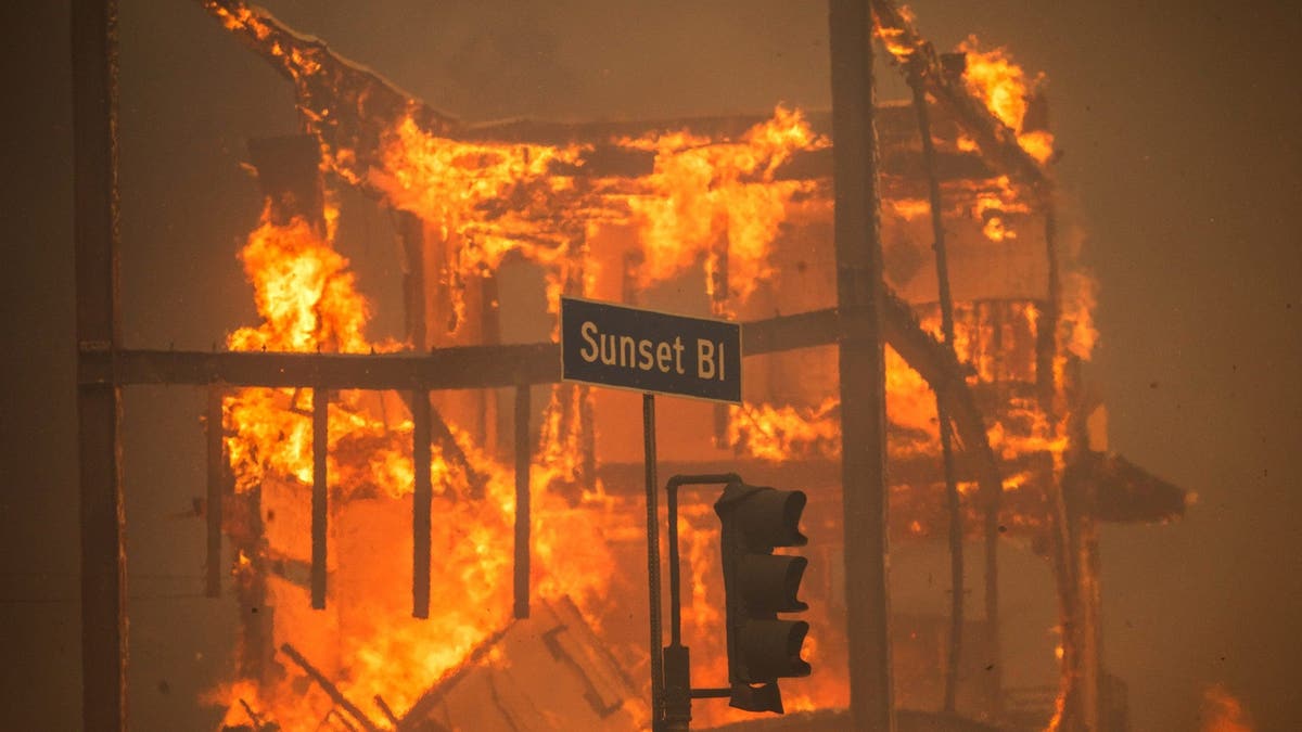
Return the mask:
<svg viewBox="0 0 1302 732">
<path fill-rule="evenodd" d="M 264 218 L 250 234 L 241 259 L 263 323 L 233 332 L 232 349 L 359 353 L 396 348 L 366 339 L 366 301 L 348 272 L 348 260 L 333 250 L 327 236 L 302 219 L 277 227 Z M 310 393 L 288 388 L 242 389 L 227 399 L 227 452 L 237 490 L 259 487 L 264 504 L 275 490 L 306 501 L 312 481 L 311 415 L 305 410 L 310 404 Z M 413 426 L 400 400 L 359 391 L 333 395 L 328 425 L 327 474 L 332 500 L 378 505 L 410 495 Z M 436 604 L 430 620 L 422 621 L 410 617 L 405 597 L 366 587 L 372 591 L 348 599 L 353 626 L 342 633 L 337 617 L 301 610 L 305 608 L 301 589 L 288 582 L 268 584 L 267 604 L 294 617 L 293 623 L 277 621 L 277 645 L 303 645 L 319 655 L 348 659 L 336 671 L 346 679 L 339 686 L 350 698 L 379 697 L 391 709 L 405 711 L 508 620 L 510 552 L 504 547 L 509 548 L 513 531 L 513 479 L 509 470 L 483 456 L 456 425 L 449 429 L 474 472 L 487 477 L 483 498 L 465 500 L 470 492 L 467 472 L 437 447 L 434 449 L 430 469 L 435 512 L 440 517 L 434 546 L 444 561 L 435 567 L 432 581 L 458 602 Z M 548 481 L 546 470 L 534 474 L 533 530 L 540 560 L 535 565 L 535 586 L 544 598 L 566 595 L 582 607 L 605 586 L 602 574 L 589 568 L 609 565 L 612 560 L 604 548 L 600 522 L 589 511 L 577 511 L 543 490 Z M 342 520 L 341 512 L 335 516 Z M 309 533 L 305 513 L 281 512 L 275 521 L 281 526 L 268 534 L 306 537 Z M 344 530 L 336 530 L 336 535 Z M 402 556 L 410 556 L 409 531 L 405 546 Z M 557 555 L 569 561 L 548 561 Z M 385 564 L 384 557 L 374 561 L 381 568 Z M 397 576 L 405 573 L 400 569 L 379 569 L 372 580 L 376 585 L 401 585 Z M 220 689 L 215 699 L 228 705 L 230 724 L 247 722 L 246 703 L 284 728 L 312 729 L 335 705 L 320 692 L 302 693 L 301 679 L 286 673 L 273 685 L 237 680 Z"/>
</svg>

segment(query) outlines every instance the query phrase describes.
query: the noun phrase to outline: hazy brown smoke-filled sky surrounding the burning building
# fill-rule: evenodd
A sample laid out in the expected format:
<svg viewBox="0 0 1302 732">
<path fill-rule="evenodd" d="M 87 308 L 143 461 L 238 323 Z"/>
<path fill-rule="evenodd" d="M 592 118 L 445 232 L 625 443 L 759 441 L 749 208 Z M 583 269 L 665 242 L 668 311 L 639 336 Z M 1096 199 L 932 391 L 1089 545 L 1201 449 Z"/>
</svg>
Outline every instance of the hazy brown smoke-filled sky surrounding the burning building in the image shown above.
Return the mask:
<svg viewBox="0 0 1302 732">
<path fill-rule="evenodd" d="M 827 107 L 824 3 L 270 4 L 470 119 Z M 914 3 L 945 48 L 1006 44 L 1051 82 L 1057 175 L 1088 231 L 1112 447 L 1197 491 L 1180 524 L 1104 534 L 1107 658 L 1138 731 L 1193 729 L 1223 683 L 1302 728 L 1302 10 L 1293 4 Z M 79 727 L 65 3 L 3 5 L 3 729 Z M 883 96 L 889 96 L 883 94 Z M 256 215 L 236 164 L 292 132 L 288 86 L 195 4 L 122 1 L 129 345 L 208 348 L 251 318 L 233 258 Z M 383 227 L 355 221 L 361 259 Z M 374 241 L 372 241 L 374 238 Z M 365 254 L 370 257 L 365 257 Z M 385 293 L 376 293 L 381 301 Z M 392 309 L 388 311 L 393 317 Z M 393 327 L 381 318 L 380 327 Z M 134 727 L 186 728 L 233 612 L 197 598 L 202 396 L 128 392 Z M 1042 632 L 1042 629 L 1035 629 Z M 182 722 L 190 720 L 190 722 Z"/>
</svg>

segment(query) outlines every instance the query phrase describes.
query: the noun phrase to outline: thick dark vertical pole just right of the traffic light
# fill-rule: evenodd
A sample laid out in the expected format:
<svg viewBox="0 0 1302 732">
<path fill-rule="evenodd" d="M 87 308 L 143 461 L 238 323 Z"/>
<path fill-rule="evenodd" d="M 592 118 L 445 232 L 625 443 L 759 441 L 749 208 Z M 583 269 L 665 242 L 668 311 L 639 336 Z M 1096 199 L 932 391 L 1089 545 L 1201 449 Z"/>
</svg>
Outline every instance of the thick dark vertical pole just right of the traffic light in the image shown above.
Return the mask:
<svg viewBox="0 0 1302 732">
<path fill-rule="evenodd" d="M 881 241 L 867 0 L 831 0 L 829 27 L 836 289 L 837 307 L 848 324 L 840 370 L 850 724 L 891 732 Z"/>
</svg>

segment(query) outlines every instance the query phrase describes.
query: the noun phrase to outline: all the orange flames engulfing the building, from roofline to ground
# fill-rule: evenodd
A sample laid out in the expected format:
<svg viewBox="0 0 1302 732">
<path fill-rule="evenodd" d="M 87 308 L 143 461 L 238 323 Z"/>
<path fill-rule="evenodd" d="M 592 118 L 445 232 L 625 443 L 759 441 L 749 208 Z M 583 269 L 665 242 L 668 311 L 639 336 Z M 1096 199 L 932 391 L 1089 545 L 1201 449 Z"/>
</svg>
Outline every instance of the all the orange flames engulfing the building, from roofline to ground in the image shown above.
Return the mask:
<svg viewBox="0 0 1302 732">
<path fill-rule="evenodd" d="M 781 251 L 784 236 L 825 224 L 818 216 L 825 219 L 829 212 L 823 201 L 828 198 L 825 185 L 811 176 L 780 175 L 797 154 L 831 146 L 802 111 L 777 107 L 771 119 L 737 135 L 678 129 L 585 143 L 508 143 L 458 139 L 453 122 L 406 100 L 363 120 L 374 125 L 363 134 L 345 130 L 340 112 L 328 115 L 329 104 L 312 86 L 320 83 L 316 76 L 328 76 L 323 70 L 327 59 L 314 55 L 320 48 L 283 46 L 275 26 L 240 4 L 208 5 L 227 27 L 267 44 L 264 52 L 289 69 L 299 90 L 299 109 L 320 141 L 323 173 L 417 216 L 426 236 L 439 238 L 448 254 L 434 271 L 440 287 L 452 293 L 449 315 L 457 326 L 449 331 L 473 320 L 467 310 L 475 303 L 466 296 L 466 283 L 491 275 L 508 255 L 543 270 L 552 310 L 562 292 L 595 296 L 602 287 L 609 292 L 617 274 L 609 271 L 596 242 L 609 241 L 603 236 L 615 238 L 612 231 L 631 232 L 630 280 L 638 290 L 700 275 L 704 293 L 698 294 L 704 294 L 715 315 L 758 318 L 792 306 L 781 300 L 792 296 L 779 281 L 803 275 L 809 264 L 803 258 L 797 264 L 788 262 L 790 253 Z M 1023 130 L 1027 90 L 1034 82 L 1029 83 L 1003 51 L 980 52 L 975 39 L 965 49 L 969 64 L 963 78 L 973 94 L 1018 133 L 1029 152 L 1046 160 L 1052 138 L 1043 130 Z M 595 146 L 646 154 L 651 168 L 638 175 L 590 176 L 585 167 Z M 960 152 L 970 151 L 962 138 L 954 146 Z M 976 221 L 973 231 L 984 237 L 983 246 L 991 251 L 1000 249 L 992 244 L 1013 244 L 1018 231 L 1012 219 L 1031 212 L 1006 177 L 983 181 L 979 188 L 963 181 L 958 193 L 966 197 L 963 206 L 956 204 L 947 215 L 957 211 Z M 809 199 L 823 204 L 809 206 Z M 930 214 L 927 202 L 915 195 L 887 198 L 883 204 L 909 223 L 924 221 Z M 326 220 L 332 219 L 327 212 Z M 241 253 L 262 322 L 234 331 L 228 341 L 232 349 L 374 353 L 413 346 L 367 337 L 367 303 L 348 260 L 333 247 L 332 228 L 327 224 L 322 231 L 302 218 L 277 225 L 270 214 L 263 216 Z M 827 264 L 814 266 L 820 263 Z M 819 294 L 825 293 L 799 293 L 794 305 L 803 302 L 799 297 L 816 300 Z M 1092 280 L 1068 274 L 1061 340 L 1079 358 L 1088 358 L 1095 340 L 1092 296 Z M 928 307 L 918 306 L 922 320 L 917 327 L 937 333 L 939 314 Z M 1027 366 L 1034 362 L 1032 348 L 1023 346 L 1034 343 L 1027 333 L 1034 333 L 1039 313 L 1038 305 L 1025 298 L 984 310 L 978 305 L 961 307 L 956 337 L 947 345 L 966 370 L 967 387 L 993 393 L 1001 380 L 1025 384 L 1032 378 L 1026 375 L 1032 369 Z M 1017 350 L 1008 341 L 1022 346 Z M 1004 352 L 1014 350 L 1025 363 L 1004 358 Z M 887 349 L 885 358 L 891 457 L 935 464 L 940 439 L 932 386 L 894 349 Z M 1001 400 L 983 425 L 995 455 L 1009 462 L 1046 453 L 1060 458 L 1066 449 L 1061 436 L 1065 417 L 1060 414 L 1060 423 L 1051 423 L 1042 405 L 1026 393 L 996 396 Z M 402 590 L 409 587 L 411 573 L 409 522 L 415 466 L 413 418 L 404 399 L 410 395 L 329 395 L 331 604 L 346 610 L 307 610 L 305 589 L 289 577 L 292 572 L 268 578 L 266 587 L 266 602 L 276 610 L 272 647 L 290 643 L 303 650 L 335 680 L 339 692 L 374 720 L 389 712 L 402 716 L 510 621 L 514 477 L 499 462 L 501 456 L 480 443 L 475 429 L 457 422 L 456 410 L 441 417 L 448 439 L 435 440 L 431 449 L 437 517 L 431 543 L 440 556 L 431 584 L 439 587 L 439 597 L 427 620 L 410 616 L 410 597 Z M 242 389 L 224 404 L 225 447 L 236 490 L 260 492 L 264 513 L 267 544 L 250 551 L 284 565 L 309 556 L 311 404 L 310 389 L 273 388 Z M 613 586 L 620 573 L 613 547 L 638 535 L 629 528 L 629 503 L 608 494 L 600 479 L 587 475 L 578 492 L 555 490 L 581 474 L 583 419 L 575 415 L 590 409 L 585 392 L 557 388 L 542 417 L 542 444 L 536 445 L 530 482 L 533 589 L 544 600 L 572 599 L 586 621 L 602 630 L 603 613 L 626 611 L 628 606 L 628 598 L 617 597 L 625 589 Z M 716 438 L 740 458 L 780 464 L 838 457 L 840 404 L 832 380 L 786 399 L 764 395 L 730 408 L 725 417 L 725 429 Z M 1019 505 L 1034 505 L 1010 516 L 1009 526 L 1035 533 L 1043 531 L 1044 521 L 1034 513 L 1042 501 L 1030 474 L 1030 469 L 1010 470 L 1003 477 L 1003 490 L 1009 500 L 1022 496 Z M 910 508 L 923 507 L 909 516 L 906 526 L 913 535 L 936 533 L 936 512 L 927 513 L 931 503 L 939 501 L 935 481 L 931 475 L 918 485 L 892 486 L 893 501 L 913 500 L 917 505 Z M 965 481 L 960 488 L 970 499 L 975 483 Z M 965 511 L 975 513 L 975 501 Z M 712 578 L 719 572 L 712 520 L 708 511 L 684 509 L 681 537 L 691 595 L 684 619 L 685 632 L 700 640 L 694 647 L 700 659 L 695 675 L 720 679 L 727 676 L 727 666 L 720 598 L 711 595 L 711 587 L 719 589 Z M 365 569 L 346 568 L 345 557 Z M 236 568 L 241 581 L 247 580 L 253 559 L 241 555 Z M 832 645 L 811 636 L 806 655 L 833 653 Z M 644 645 L 613 653 L 626 666 L 644 671 Z M 277 675 L 236 679 L 215 693 L 215 701 L 229 710 L 229 724 L 247 723 L 251 710 L 289 729 L 312 729 L 337 714 L 337 699 L 307 684 L 297 667 L 280 666 Z M 846 696 L 844 680 L 828 675 L 793 689 L 786 706 L 844 706 Z M 644 724 L 647 714 L 637 707 L 633 718 Z M 742 716 L 723 705 L 702 705 L 695 714 L 706 724 Z"/>
</svg>

